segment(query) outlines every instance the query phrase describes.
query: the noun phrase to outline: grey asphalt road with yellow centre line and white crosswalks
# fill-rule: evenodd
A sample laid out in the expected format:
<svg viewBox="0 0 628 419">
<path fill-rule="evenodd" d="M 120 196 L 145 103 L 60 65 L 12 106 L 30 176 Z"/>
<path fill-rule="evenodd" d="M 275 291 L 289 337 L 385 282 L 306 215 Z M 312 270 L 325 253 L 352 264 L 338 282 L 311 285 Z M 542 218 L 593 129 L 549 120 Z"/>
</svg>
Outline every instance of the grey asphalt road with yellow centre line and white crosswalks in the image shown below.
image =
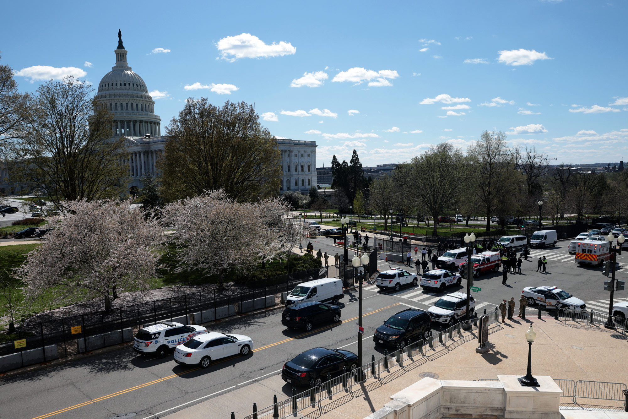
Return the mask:
<svg viewBox="0 0 628 419">
<path fill-rule="evenodd" d="M 317 237 L 315 241 L 320 246 L 330 246 L 331 239 Z M 580 267 L 573 263 L 573 256 L 566 253 L 566 244 L 568 242 L 560 242 L 556 248 L 533 250 L 533 258 L 523 265 L 524 273 L 509 275 L 506 286 L 501 283 L 501 273 L 477 278 L 474 285 L 481 288 L 480 292 L 474 293 L 478 311 L 482 313 L 484 308 L 494 308 L 502 298 L 517 299 L 524 286 L 559 286 L 585 302 L 609 298 L 604 291 L 603 281 L 606 278 L 602 276 L 601 268 Z M 538 273 L 536 259 L 543 255 L 549 260 L 548 272 Z M 619 261 L 624 258 L 620 256 Z M 379 269 L 384 270 L 387 266 L 387 263 L 381 263 Z M 625 280 L 625 276 L 624 269 L 620 269 L 617 278 Z M 447 292 L 459 289 L 462 286 L 453 286 Z M 372 334 L 383 320 L 404 308 L 426 309 L 440 295 L 422 291 L 420 287 L 391 293 L 365 286 L 363 359 L 371 359 L 372 354 L 381 357 L 383 348 L 374 347 Z M 615 293 L 615 298 L 625 297 L 628 297 L 627 291 Z M 212 324 L 211 330 L 249 335 L 255 342 L 255 348 L 249 356 L 217 361 L 208 369 L 178 366 L 171 355 L 165 359 L 136 356 L 127 347 L 102 356 L 2 379 L 0 416 L 39 419 L 52 416 L 103 419 L 123 415 L 139 419 L 165 416 L 187 407 L 177 407 L 184 403 L 198 398 L 207 400 L 257 379 L 278 374 L 284 362 L 311 347 L 344 347 L 356 351 L 357 291 L 346 295 L 341 306 L 342 324 L 325 325 L 309 333 L 283 327 L 281 310 Z M 535 314 L 536 310 L 533 313 L 528 311 L 528 315 Z M 291 395 L 291 386 L 286 384 L 283 391 L 284 395 Z M 253 401 L 256 400 L 251 400 L 251 403 Z M 269 400 L 256 402 L 259 406 L 271 403 Z M 227 411 L 229 406 L 225 406 Z"/>
</svg>

